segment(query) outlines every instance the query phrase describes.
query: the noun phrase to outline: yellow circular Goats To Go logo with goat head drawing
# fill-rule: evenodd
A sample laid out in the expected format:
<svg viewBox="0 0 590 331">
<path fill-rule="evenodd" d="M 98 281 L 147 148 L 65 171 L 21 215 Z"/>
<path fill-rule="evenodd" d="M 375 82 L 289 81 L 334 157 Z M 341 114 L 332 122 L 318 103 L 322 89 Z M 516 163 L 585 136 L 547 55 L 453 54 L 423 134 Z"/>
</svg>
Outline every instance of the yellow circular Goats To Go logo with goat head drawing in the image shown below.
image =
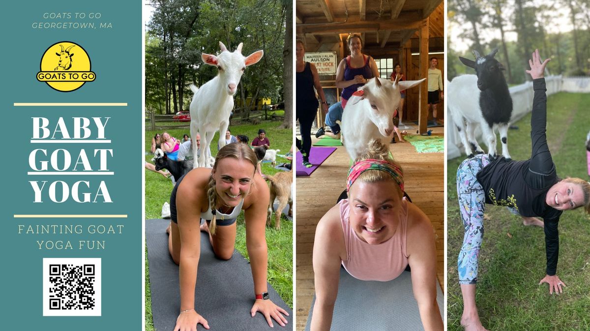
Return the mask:
<svg viewBox="0 0 590 331">
<path fill-rule="evenodd" d="M 61 92 L 76 91 L 95 79 L 86 50 L 71 41 L 56 42 L 47 48 L 41 57 L 41 71 L 37 72 L 38 81 Z"/>
</svg>

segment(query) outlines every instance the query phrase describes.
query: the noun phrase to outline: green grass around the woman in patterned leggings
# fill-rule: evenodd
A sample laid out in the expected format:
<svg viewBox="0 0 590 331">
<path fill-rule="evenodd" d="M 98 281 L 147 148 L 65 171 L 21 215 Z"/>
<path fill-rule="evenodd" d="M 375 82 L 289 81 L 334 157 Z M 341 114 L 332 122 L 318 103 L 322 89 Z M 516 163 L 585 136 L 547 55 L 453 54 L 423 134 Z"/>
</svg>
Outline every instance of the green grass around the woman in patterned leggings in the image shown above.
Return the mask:
<svg viewBox="0 0 590 331">
<path fill-rule="evenodd" d="M 548 98 L 547 137 L 558 176 L 588 180 L 585 139 L 590 128 L 590 94 L 559 93 Z M 530 114 L 508 133 L 514 160 L 530 158 Z M 483 145 L 484 146 L 484 145 Z M 498 150 L 501 151 L 500 145 Z M 457 256 L 463 223 L 455 178 L 464 157 L 448 161 L 448 330 L 460 327 L 463 299 L 458 285 Z M 590 329 L 590 217 L 583 208 L 565 211 L 559 222 L 558 276 L 565 293 L 549 295 L 545 276 L 545 236 L 525 227 L 504 207 L 486 205 L 489 219 L 479 258 L 476 302 L 481 322 L 490 330 Z"/>
</svg>

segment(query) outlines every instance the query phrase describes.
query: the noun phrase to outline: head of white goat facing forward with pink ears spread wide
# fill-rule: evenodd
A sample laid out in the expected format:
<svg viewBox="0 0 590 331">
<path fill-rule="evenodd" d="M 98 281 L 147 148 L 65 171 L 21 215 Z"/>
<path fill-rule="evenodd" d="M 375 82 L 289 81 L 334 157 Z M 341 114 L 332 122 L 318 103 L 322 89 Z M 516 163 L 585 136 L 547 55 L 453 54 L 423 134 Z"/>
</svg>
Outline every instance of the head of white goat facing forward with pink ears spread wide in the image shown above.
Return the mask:
<svg viewBox="0 0 590 331">
<path fill-rule="evenodd" d="M 215 65 L 219 69 L 218 77 L 221 85 L 225 87 L 228 95 L 234 95 L 246 67 L 260 61 L 264 51 L 257 51 L 244 57 L 242 55 L 242 43 L 238 45 L 234 52 L 228 51 L 221 41 L 219 47 L 221 47 L 221 54 L 218 56 L 203 53 L 201 58 L 206 64 Z"/>
</svg>

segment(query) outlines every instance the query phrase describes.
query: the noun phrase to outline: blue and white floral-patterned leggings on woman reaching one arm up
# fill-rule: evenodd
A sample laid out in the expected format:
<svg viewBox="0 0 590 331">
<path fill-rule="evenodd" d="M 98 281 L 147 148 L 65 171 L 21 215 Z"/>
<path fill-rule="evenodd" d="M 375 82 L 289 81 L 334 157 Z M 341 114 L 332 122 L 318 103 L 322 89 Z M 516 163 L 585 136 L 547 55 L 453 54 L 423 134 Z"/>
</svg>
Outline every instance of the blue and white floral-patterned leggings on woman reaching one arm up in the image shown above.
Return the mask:
<svg viewBox="0 0 590 331">
<path fill-rule="evenodd" d="M 457 169 L 457 196 L 465 235 L 457 260 L 460 284 L 477 282 L 477 258 L 483 239 L 483 211 L 486 196 L 477 173 L 490 163 L 489 155 L 468 158 Z"/>
</svg>

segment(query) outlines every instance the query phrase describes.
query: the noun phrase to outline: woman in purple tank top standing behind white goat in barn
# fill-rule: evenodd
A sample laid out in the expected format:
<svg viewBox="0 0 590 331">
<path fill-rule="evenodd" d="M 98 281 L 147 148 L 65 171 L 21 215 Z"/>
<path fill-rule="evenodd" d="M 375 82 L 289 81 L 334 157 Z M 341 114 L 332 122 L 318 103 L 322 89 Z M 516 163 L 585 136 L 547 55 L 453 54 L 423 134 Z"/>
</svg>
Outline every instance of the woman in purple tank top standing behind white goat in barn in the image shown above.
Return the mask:
<svg viewBox="0 0 590 331">
<path fill-rule="evenodd" d="M 350 55 L 343 58 L 336 70 L 336 87 L 342 88 L 342 108 L 356 90 L 365 85 L 367 80 L 379 77 L 377 64 L 372 57 L 362 54 L 362 39 L 359 34 L 351 34 L 346 38 Z"/>
</svg>

